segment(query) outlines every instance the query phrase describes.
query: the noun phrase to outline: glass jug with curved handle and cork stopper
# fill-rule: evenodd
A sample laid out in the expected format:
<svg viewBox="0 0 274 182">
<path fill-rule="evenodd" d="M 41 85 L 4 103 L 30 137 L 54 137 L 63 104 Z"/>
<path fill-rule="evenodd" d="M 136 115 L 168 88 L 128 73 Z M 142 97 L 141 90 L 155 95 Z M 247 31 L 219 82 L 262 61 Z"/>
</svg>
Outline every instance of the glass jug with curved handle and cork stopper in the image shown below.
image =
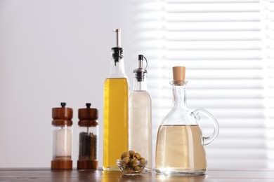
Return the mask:
<svg viewBox="0 0 274 182">
<path fill-rule="evenodd" d="M 156 144 L 157 174 L 195 176 L 207 172 L 204 145 L 218 135 L 216 118 L 204 109 L 189 111 L 185 97 L 185 67 L 173 68 L 173 108 L 159 126 Z M 197 121 L 206 116 L 214 124 L 214 132 L 203 137 Z"/>
</svg>

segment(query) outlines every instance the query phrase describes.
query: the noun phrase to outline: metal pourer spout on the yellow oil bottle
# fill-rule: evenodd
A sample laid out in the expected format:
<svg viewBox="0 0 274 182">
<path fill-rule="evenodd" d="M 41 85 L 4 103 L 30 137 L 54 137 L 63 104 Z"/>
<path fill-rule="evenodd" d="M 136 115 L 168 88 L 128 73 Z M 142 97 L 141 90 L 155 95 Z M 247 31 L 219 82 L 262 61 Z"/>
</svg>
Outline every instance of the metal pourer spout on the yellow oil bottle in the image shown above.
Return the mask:
<svg viewBox="0 0 274 182">
<path fill-rule="evenodd" d="M 116 47 L 112 48 L 112 58 L 116 63 L 120 61 L 120 59 L 123 59 L 123 48 L 121 47 L 121 29 L 113 29 L 114 32 L 116 32 Z"/>
</svg>

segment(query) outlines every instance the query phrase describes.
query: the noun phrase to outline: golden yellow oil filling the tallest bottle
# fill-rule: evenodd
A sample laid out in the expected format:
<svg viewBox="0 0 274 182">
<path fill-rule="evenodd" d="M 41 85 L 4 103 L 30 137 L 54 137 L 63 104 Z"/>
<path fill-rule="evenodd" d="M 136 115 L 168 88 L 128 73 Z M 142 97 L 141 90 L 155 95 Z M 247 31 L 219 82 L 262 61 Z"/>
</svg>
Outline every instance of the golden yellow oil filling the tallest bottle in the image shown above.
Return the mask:
<svg viewBox="0 0 274 182">
<path fill-rule="evenodd" d="M 116 160 L 128 150 L 128 83 L 107 78 L 104 87 L 103 169 L 119 170 Z"/>
</svg>

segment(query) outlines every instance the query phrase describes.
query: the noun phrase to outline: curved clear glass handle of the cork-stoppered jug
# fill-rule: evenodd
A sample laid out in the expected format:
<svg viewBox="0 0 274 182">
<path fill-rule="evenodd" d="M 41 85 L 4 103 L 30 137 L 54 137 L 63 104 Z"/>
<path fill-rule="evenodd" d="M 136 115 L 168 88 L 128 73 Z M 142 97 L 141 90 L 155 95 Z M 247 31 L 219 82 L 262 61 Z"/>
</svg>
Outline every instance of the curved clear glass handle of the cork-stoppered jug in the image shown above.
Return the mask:
<svg viewBox="0 0 274 182">
<path fill-rule="evenodd" d="M 211 141 L 214 141 L 214 139 L 218 136 L 219 126 L 216 118 L 211 113 L 209 113 L 209 111 L 205 109 L 196 109 L 195 111 L 191 112 L 191 115 L 194 116 L 197 121 L 200 120 L 200 114 L 207 116 L 207 118 L 209 118 L 209 120 L 211 120 L 214 125 L 214 132 L 209 135 L 209 137 L 202 137 L 202 141 L 205 146 L 210 144 Z"/>
</svg>

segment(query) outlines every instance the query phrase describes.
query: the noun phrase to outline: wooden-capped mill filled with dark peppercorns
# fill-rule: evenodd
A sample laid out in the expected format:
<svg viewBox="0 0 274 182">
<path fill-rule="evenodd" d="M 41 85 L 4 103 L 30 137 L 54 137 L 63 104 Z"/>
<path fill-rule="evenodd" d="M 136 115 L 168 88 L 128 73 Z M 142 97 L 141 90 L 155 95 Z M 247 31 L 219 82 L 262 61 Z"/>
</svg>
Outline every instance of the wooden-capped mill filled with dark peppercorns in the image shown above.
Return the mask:
<svg viewBox="0 0 274 182">
<path fill-rule="evenodd" d="M 86 108 L 78 110 L 79 118 L 79 160 L 77 169 L 98 168 L 98 109 Z"/>
</svg>

